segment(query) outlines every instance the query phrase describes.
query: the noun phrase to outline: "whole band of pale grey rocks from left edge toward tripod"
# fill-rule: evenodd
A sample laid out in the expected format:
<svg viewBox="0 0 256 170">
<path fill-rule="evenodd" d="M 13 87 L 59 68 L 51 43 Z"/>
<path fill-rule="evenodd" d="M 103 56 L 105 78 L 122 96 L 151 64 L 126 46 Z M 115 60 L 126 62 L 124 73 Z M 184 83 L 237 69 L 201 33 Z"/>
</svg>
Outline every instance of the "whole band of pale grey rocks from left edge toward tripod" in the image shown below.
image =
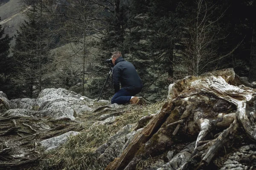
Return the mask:
<svg viewBox="0 0 256 170">
<path fill-rule="evenodd" d="M 93 102 L 93 99 L 81 96 L 64 88 L 44 89 L 38 95 L 37 99 L 23 98 L 10 101 L 1 92 L 0 99 L 3 103 L 1 107 L 2 112 L 6 111 L 5 114 L 7 116 L 35 116 L 51 119 L 69 118 L 74 120 L 76 116 L 93 111 L 87 105 Z"/>
</svg>

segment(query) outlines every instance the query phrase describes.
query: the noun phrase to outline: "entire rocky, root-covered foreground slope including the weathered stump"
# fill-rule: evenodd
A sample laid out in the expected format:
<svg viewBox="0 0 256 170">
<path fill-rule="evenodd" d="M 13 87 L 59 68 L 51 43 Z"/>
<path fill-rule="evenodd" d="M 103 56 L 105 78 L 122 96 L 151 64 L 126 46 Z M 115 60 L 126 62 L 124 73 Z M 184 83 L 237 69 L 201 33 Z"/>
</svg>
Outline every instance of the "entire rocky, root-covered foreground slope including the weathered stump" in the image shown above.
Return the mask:
<svg viewBox="0 0 256 170">
<path fill-rule="evenodd" d="M 146 106 L 63 88 L 0 92 L 0 169 L 254 170 L 255 87 L 224 69 L 180 79 Z"/>
</svg>

